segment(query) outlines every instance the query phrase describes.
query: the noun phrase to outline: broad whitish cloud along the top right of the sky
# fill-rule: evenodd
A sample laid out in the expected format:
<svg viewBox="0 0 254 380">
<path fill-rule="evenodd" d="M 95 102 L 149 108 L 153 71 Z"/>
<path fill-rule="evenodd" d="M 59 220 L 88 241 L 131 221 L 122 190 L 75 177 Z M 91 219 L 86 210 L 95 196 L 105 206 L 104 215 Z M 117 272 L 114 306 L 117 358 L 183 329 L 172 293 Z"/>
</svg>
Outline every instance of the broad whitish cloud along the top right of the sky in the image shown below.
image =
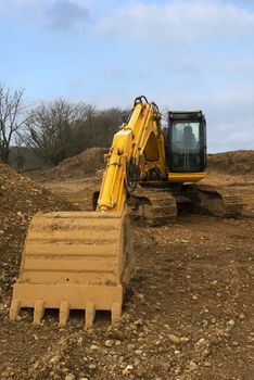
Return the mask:
<svg viewBox="0 0 254 380">
<path fill-rule="evenodd" d="M 254 13 L 212 0 L 175 0 L 164 5 L 139 2 L 104 16 L 96 24 L 96 30 L 101 35 L 151 42 L 254 38 Z"/>
</svg>

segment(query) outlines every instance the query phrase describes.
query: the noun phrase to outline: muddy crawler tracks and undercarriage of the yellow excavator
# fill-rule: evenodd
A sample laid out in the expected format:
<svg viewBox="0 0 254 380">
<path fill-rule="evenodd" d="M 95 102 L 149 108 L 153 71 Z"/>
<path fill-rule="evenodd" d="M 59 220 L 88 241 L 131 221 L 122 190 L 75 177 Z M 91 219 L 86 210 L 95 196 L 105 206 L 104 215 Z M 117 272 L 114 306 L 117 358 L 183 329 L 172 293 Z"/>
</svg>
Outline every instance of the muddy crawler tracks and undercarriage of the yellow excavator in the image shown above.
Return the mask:
<svg viewBox="0 0 254 380">
<path fill-rule="evenodd" d="M 195 212 L 237 218 L 242 214 L 240 195 L 225 187 L 209 185 L 179 185 L 144 182 L 127 202 L 130 215 L 151 226 L 172 224 L 177 219 L 178 206 L 191 204 Z"/>
</svg>

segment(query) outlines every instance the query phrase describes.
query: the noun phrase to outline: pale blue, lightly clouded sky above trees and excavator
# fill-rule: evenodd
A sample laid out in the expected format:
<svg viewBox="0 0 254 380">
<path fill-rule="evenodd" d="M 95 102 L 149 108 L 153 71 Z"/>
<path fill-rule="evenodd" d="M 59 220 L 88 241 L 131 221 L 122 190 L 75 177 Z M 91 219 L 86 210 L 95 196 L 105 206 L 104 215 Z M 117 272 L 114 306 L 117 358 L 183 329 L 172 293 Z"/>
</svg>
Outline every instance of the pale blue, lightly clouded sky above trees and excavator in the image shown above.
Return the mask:
<svg viewBox="0 0 254 380">
<path fill-rule="evenodd" d="M 202 109 L 211 152 L 254 149 L 254 1 L 0 0 L 0 81 L 34 103 L 139 94 Z"/>
</svg>

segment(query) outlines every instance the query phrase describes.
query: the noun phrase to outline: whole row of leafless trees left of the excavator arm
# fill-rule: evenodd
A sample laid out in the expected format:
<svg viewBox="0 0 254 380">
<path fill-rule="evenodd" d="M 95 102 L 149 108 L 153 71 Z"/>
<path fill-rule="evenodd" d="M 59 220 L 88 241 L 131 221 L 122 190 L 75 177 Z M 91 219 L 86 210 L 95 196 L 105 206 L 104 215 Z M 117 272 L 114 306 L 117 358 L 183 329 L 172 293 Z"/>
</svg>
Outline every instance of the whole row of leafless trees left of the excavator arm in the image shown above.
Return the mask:
<svg viewBox="0 0 254 380">
<path fill-rule="evenodd" d="M 0 160 L 9 163 L 15 145 L 17 166 L 23 166 L 27 151 L 41 165 L 56 165 L 87 148 L 110 147 L 129 113 L 119 107 L 98 110 L 63 98 L 29 107 L 24 92 L 22 87 L 12 90 L 0 84 Z"/>
</svg>

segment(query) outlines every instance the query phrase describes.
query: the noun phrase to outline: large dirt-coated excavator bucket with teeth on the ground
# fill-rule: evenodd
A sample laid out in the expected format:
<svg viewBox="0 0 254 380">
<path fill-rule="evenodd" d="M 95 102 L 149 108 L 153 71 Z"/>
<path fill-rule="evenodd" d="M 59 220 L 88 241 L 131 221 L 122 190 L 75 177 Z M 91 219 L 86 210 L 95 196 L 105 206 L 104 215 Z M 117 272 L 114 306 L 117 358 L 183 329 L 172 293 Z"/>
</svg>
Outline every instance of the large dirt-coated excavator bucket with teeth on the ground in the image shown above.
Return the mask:
<svg viewBox="0 0 254 380">
<path fill-rule="evenodd" d="M 46 308 L 60 309 L 65 326 L 71 309 L 86 311 L 91 326 L 96 311 L 122 314 L 125 284 L 134 273 L 126 215 L 96 212 L 37 214 L 29 226 L 21 274 L 14 284 L 10 319 L 34 307 L 34 324 Z"/>
</svg>

